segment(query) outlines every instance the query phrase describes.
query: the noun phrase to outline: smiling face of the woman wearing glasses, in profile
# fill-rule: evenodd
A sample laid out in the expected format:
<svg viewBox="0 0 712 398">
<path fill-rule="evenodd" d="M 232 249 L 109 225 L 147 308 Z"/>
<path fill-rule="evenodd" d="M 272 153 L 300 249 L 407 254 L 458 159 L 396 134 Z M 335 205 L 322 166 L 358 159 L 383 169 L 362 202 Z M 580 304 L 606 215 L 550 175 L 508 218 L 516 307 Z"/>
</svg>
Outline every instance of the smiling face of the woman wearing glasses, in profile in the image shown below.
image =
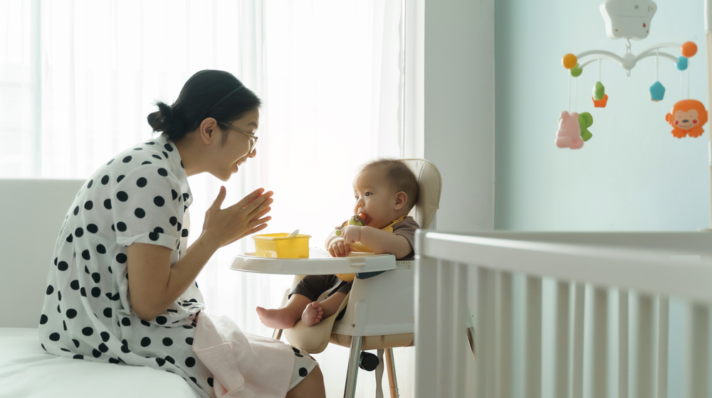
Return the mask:
<svg viewBox="0 0 712 398">
<path fill-rule="evenodd" d="M 255 134 L 259 126 L 259 119 L 260 113 L 255 109 L 247 112 L 244 117 L 228 124 L 242 131 Z M 216 137 L 216 144 L 219 144 L 219 148 L 214 156 L 214 170 L 211 174 L 222 181 L 228 181 L 234 173 L 237 173 L 240 166 L 247 161 L 247 158 L 255 157 L 257 151 L 253 149 L 253 151 L 248 154 L 250 139 L 245 134 L 228 129 L 227 127 L 220 127 L 222 134 L 227 134 L 227 138 L 224 144 L 222 144 L 223 137 L 220 134 Z"/>
</svg>

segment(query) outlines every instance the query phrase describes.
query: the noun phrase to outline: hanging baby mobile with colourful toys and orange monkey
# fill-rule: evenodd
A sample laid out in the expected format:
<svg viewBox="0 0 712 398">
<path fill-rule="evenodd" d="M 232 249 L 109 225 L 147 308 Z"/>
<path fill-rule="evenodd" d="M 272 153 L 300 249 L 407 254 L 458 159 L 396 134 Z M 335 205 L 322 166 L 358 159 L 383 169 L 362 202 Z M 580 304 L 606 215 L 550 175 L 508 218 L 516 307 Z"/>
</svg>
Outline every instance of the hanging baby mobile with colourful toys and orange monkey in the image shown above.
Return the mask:
<svg viewBox="0 0 712 398">
<path fill-rule="evenodd" d="M 704 105 L 690 97 L 690 67 L 692 58 L 697 53 L 697 45 L 691 41 L 683 44 L 661 43 L 646 48 L 639 55 L 631 52 L 630 41 L 641 40 L 648 36 L 650 21 L 657 9 L 651 0 L 607 0 L 600 6 L 601 14 L 606 21 L 606 34 L 609 38 L 624 38 L 625 53 L 619 56 L 605 50 L 590 50 L 578 55 L 566 54 L 561 63 L 568 70 L 569 75 L 569 109 L 561 112 L 559 129 L 556 132 L 555 144 L 559 148 L 580 149 L 585 141 L 592 138 L 588 130 L 593 125 L 593 117 L 589 112 L 577 113 L 576 111 L 576 80 L 583 73 L 583 69 L 590 63 L 597 62 L 598 80 L 593 87 L 591 99 L 593 106 L 604 108 L 608 103 L 608 95 L 601 82 L 601 61 L 614 60 L 619 63 L 627 75 L 643 58 L 655 58 L 655 82 L 650 86 L 651 101 L 658 102 L 665 96 L 665 87 L 658 80 L 658 63 L 660 58 L 671 60 L 675 63 L 681 74 L 681 100 L 675 104 L 665 120 L 672 127 L 672 135 L 677 138 L 684 136 L 698 137 L 704 130 L 702 126 L 707 122 L 707 111 Z M 661 48 L 679 48 L 680 57 L 661 52 Z M 682 97 L 682 83 L 684 71 L 687 71 L 687 99 Z M 571 79 L 574 79 L 574 112 L 571 112 Z"/>
</svg>

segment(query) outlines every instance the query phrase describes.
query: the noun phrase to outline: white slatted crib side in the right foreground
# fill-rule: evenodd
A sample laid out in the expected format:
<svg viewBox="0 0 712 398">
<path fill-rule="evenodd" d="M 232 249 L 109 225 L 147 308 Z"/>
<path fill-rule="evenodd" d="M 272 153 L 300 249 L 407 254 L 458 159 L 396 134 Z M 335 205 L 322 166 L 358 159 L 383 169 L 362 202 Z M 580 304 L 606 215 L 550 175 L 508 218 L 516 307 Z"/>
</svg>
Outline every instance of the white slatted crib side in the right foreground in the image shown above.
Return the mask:
<svg viewBox="0 0 712 398">
<path fill-rule="evenodd" d="M 420 230 L 416 242 L 416 397 L 667 397 L 670 298 L 691 308 L 691 371 L 671 396 L 708 397 L 712 233 Z"/>
</svg>

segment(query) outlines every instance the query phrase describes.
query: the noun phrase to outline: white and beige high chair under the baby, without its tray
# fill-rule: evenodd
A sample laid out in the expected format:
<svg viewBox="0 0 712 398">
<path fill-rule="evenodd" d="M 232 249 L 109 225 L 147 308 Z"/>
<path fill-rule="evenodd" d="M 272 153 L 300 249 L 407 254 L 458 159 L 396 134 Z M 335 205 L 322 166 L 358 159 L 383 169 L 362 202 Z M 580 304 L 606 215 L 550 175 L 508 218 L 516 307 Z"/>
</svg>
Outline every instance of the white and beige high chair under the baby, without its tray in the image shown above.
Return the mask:
<svg viewBox="0 0 712 398">
<path fill-rule="evenodd" d="M 424 159 L 403 159 L 415 174 L 419 185 L 418 202 L 410 211 L 418 224 L 427 229 L 439 208 L 442 182 L 436 166 Z M 392 261 L 395 258 L 389 254 Z M 308 353 L 322 352 L 328 343 L 350 348 L 344 397 L 353 397 L 356 391 L 357 371 L 362 350 L 385 350 L 385 367 L 392 398 L 398 397 L 397 380 L 393 364 L 393 348 L 414 345 L 414 261 L 395 262 L 391 271 L 368 279 L 354 279 L 353 286 L 342 303 L 346 311 L 336 321 L 337 313 L 315 326 L 305 326 L 298 321 L 294 328 L 284 330 L 290 344 Z M 297 275 L 293 287 L 304 275 Z M 286 291 L 282 306 L 286 305 Z M 387 305 L 384 306 L 384 303 Z M 282 330 L 275 330 L 280 338 Z M 379 358 L 381 360 L 381 358 Z M 377 375 L 378 377 L 378 375 Z"/>
</svg>

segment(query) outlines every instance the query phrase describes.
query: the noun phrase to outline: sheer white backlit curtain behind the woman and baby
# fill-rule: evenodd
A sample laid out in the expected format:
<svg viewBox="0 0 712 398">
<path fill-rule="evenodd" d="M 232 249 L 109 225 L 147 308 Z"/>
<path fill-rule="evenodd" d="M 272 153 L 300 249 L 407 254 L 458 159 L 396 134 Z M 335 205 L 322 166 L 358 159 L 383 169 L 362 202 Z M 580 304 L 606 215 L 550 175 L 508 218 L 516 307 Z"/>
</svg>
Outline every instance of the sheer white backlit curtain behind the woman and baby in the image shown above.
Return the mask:
<svg viewBox="0 0 712 398">
<path fill-rule="evenodd" d="M 86 178 L 151 136 L 153 102 L 171 103 L 194 72 L 232 72 L 264 101 L 256 158 L 225 203 L 274 190 L 268 230 L 300 229 L 311 246 L 352 212 L 352 178 L 399 156 L 400 0 L 0 0 L 0 176 Z M 192 240 L 223 183 L 189 178 Z M 256 306 L 276 308 L 291 276 L 231 271 L 251 238 L 220 249 L 199 276 L 209 312 L 271 335 Z M 345 384 L 347 349 L 317 355 L 328 396 Z M 397 350 L 403 396 L 412 349 Z M 370 397 L 361 372 L 358 396 Z"/>
</svg>

